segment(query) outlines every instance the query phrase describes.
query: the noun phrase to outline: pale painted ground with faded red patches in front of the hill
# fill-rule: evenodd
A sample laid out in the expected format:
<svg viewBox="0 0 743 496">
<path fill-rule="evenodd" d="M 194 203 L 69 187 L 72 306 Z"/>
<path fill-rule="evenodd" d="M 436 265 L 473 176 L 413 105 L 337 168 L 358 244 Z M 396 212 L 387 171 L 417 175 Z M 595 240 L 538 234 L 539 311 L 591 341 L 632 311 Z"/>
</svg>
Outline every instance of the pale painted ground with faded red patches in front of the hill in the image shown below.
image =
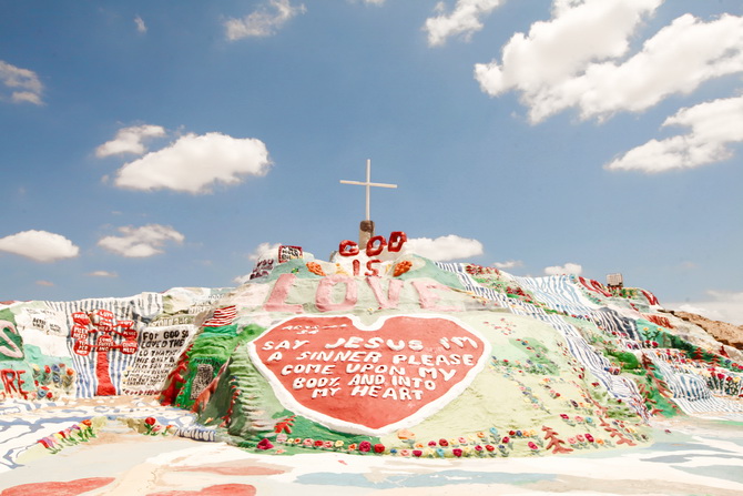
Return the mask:
<svg viewBox="0 0 743 496">
<path fill-rule="evenodd" d="M 12 466 L 0 470 L 1 496 L 32 495 L 741 495 L 743 426 L 684 418 L 654 425 L 649 447 L 586 451 L 567 456 L 527 458 L 407 459 L 342 453 L 293 456 L 258 455 L 224 443 L 181 437 L 150 437 L 118 422 L 159 414 L 146 401 L 128 404 L 75 404 L 59 412 L 105 413 L 111 422 L 88 443 L 49 454 L 40 445 L 13 449 Z M 69 405 L 68 405 L 69 406 Z M 37 416 L 39 422 L 32 422 Z M 0 415 L 4 427 L 12 415 Z M 69 423 L 52 409 L 16 417 L 6 428 L 3 451 L 11 451 L 18 426 L 54 428 Z M 191 419 L 181 419 L 184 423 Z M 2 425 L 2 424 L 0 424 Z M 11 426 L 12 427 L 12 426 Z M 35 429 L 29 436 L 42 437 Z M 13 433 L 13 434 L 8 434 Z M 45 434 L 43 434 L 45 435 Z M 28 444 L 28 438 L 23 443 Z M 17 442 L 16 444 L 22 444 Z"/>
</svg>

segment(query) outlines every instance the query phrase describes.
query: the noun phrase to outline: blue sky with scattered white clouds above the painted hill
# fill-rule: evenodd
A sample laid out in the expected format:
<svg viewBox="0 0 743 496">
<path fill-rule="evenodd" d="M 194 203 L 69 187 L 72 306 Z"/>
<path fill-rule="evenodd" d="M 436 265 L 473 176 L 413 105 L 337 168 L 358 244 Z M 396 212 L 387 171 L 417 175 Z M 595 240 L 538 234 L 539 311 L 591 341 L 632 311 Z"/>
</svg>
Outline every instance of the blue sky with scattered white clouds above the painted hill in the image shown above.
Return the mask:
<svg viewBox="0 0 743 496">
<path fill-rule="evenodd" d="M 743 323 L 740 0 L 2 2 L 0 301 L 377 233 Z"/>
</svg>

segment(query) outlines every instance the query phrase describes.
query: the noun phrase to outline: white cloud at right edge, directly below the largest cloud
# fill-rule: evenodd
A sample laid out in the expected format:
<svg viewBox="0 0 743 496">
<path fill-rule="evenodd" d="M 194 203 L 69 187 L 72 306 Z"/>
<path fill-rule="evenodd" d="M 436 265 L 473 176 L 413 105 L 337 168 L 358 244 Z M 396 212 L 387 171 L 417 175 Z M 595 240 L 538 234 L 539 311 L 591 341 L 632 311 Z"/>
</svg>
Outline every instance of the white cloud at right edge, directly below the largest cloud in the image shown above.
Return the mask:
<svg viewBox="0 0 743 496">
<path fill-rule="evenodd" d="M 607 165 L 610 170 L 648 173 L 691 169 L 729 159 L 731 143 L 743 142 L 743 97 L 681 109 L 663 122 L 690 128 L 688 134 L 651 140 Z"/>
</svg>

